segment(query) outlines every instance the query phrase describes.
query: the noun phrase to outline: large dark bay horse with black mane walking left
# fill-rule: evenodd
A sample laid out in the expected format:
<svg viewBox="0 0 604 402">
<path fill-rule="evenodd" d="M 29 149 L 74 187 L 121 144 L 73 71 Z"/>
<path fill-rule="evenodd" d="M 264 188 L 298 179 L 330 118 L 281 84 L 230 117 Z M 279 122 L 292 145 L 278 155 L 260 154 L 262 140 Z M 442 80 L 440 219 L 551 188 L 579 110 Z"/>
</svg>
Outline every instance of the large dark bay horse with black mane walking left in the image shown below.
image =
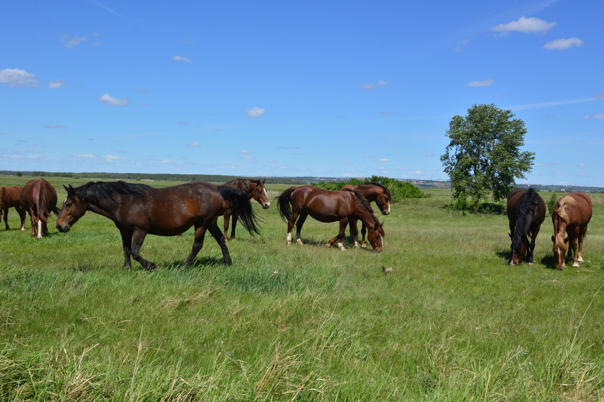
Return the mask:
<svg viewBox="0 0 604 402">
<path fill-rule="evenodd" d="M 63 186 L 65 187 L 65 186 Z M 69 232 L 86 211 L 92 211 L 114 221 L 120 230 L 124 246 L 124 267 L 130 268 L 130 254 L 143 268 L 156 268 L 153 262 L 142 258 L 139 251 L 145 236 L 176 236 L 191 226 L 195 228 L 193 249 L 185 267 L 189 267 L 204 245 L 205 231 L 222 249 L 225 264 L 231 264 L 225 238 L 216 220 L 223 212 L 223 203 L 230 204 L 239 215 L 243 227 L 253 235 L 259 233 L 257 218 L 248 197 L 231 186 L 213 186 L 203 181 L 156 189 L 145 184 L 123 181 L 90 182 L 73 188 L 65 187 L 67 198 L 57 219 L 59 232 Z"/>
</svg>

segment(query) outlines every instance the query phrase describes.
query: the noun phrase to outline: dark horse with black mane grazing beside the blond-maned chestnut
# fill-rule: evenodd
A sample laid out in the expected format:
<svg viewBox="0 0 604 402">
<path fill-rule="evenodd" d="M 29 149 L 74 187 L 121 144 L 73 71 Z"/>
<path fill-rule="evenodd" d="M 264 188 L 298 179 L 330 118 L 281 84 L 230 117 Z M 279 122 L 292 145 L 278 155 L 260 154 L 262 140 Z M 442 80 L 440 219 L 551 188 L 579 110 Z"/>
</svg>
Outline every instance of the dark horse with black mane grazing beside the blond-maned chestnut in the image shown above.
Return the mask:
<svg viewBox="0 0 604 402">
<path fill-rule="evenodd" d="M 533 264 L 535 239 L 545 219 L 545 201 L 533 188 L 514 189 L 507 196 L 507 219 L 510 221 L 512 239 L 510 265 L 518 264 L 524 253 L 527 254 L 528 264 Z"/>
</svg>

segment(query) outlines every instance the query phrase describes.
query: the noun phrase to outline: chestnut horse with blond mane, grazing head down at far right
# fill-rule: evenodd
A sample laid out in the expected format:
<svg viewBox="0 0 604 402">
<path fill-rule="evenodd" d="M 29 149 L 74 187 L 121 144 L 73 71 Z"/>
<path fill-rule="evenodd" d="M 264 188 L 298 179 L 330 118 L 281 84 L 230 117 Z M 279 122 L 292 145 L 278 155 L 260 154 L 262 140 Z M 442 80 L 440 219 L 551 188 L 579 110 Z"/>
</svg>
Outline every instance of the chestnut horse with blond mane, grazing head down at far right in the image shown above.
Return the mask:
<svg viewBox="0 0 604 402">
<path fill-rule="evenodd" d="M 553 212 L 551 222 L 554 224 L 554 257 L 556 257 L 557 268 L 564 269 L 564 253 L 568 250 L 568 256 L 573 254 L 573 267 L 579 267 L 583 262 L 583 239 L 587 232 L 587 224 L 591 219 L 591 199 L 585 193 L 570 193 L 558 200 Z M 565 238 L 565 233 L 568 238 Z M 579 243 L 579 254 L 577 254 L 577 241 Z M 570 243 L 568 247 L 567 242 Z"/>
</svg>

